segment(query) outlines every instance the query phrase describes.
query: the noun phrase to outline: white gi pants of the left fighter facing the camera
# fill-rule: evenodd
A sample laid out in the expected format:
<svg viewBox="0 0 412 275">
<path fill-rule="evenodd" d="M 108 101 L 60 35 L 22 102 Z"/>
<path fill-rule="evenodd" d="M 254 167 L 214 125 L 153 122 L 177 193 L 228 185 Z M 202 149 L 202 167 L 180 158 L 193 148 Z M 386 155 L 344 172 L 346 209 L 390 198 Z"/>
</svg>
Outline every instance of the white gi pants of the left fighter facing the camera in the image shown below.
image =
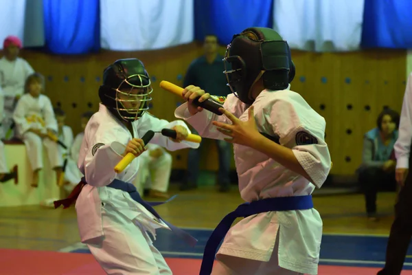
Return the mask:
<svg viewBox="0 0 412 275">
<path fill-rule="evenodd" d="M 102 206 L 102 228 L 102 240 L 87 242 L 87 246 L 107 274 L 172 274 L 140 223 L 131 222 L 109 203 Z"/>
</svg>

